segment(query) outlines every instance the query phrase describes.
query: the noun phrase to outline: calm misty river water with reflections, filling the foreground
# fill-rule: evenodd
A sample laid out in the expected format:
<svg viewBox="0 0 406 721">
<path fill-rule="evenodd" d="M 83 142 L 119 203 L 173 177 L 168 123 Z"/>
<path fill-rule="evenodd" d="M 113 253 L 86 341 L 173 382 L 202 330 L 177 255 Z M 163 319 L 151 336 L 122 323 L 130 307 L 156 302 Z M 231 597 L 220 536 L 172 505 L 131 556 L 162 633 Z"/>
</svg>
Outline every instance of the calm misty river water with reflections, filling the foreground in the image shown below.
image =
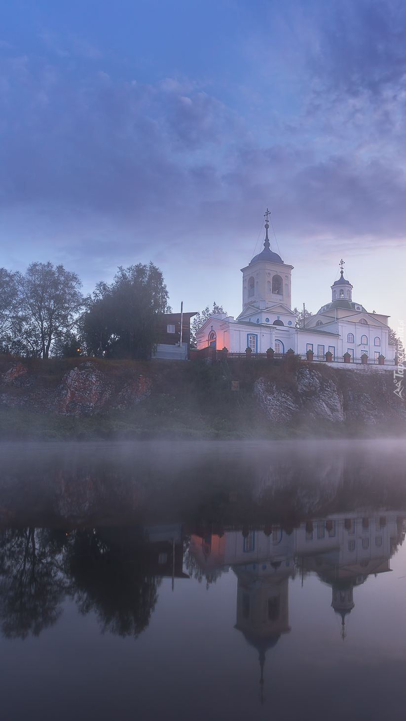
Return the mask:
<svg viewBox="0 0 406 721">
<path fill-rule="evenodd" d="M 406 444 L 4 445 L 4 720 L 406 703 Z"/>
</svg>

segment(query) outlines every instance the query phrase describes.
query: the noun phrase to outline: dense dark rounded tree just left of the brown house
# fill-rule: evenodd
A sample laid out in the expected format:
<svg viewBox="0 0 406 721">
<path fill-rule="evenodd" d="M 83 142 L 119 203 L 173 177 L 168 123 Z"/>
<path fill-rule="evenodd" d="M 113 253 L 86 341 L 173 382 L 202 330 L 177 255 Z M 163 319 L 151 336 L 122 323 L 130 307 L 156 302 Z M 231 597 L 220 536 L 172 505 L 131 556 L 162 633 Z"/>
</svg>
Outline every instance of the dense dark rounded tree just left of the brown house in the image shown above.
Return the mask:
<svg viewBox="0 0 406 721">
<path fill-rule="evenodd" d="M 89 355 L 148 357 L 159 342 L 159 317 L 170 312 L 167 286 L 153 263 L 119 267 L 110 286 L 98 283 L 81 320 Z"/>
</svg>

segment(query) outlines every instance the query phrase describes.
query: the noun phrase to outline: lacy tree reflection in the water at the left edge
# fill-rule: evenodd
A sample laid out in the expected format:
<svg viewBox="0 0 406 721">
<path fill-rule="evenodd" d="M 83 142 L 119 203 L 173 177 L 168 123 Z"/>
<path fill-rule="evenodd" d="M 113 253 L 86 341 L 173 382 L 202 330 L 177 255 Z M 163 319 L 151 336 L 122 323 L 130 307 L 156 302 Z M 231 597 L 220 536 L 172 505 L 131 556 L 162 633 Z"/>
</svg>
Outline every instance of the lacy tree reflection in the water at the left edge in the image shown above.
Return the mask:
<svg viewBox="0 0 406 721">
<path fill-rule="evenodd" d="M 65 593 L 56 539 L 35 528 L 0 535 L 0 623 L 4 636 L 37 636 L 55 624 Z"/>
</svg>

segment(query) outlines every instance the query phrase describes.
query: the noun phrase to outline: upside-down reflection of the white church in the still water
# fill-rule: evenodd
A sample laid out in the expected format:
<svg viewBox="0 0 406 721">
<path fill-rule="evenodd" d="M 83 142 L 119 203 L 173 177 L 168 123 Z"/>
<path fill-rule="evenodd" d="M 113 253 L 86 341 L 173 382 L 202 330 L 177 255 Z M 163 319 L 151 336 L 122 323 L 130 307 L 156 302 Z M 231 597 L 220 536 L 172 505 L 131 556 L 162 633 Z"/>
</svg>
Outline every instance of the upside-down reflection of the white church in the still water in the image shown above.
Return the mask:
<svg viewBox="0 0 406 721">
<path fill-rule="evenodd" d="M 259 653 L 261 696 L 265 653 L 288 624 L 288 579 L 315 572 L 332 587 L 332 608 L 345 618 L 354 607 L 353 589 L 371 573 L 390 570 L 389 559 L 405 535 L 403 518 L 392 513 L 356 514 L 301 523 L 291 534 L 281 528 L 193 535 L 190 554 L 206 578 L 231 567 L 237 576 L 236 629 Z"/>
</svg>

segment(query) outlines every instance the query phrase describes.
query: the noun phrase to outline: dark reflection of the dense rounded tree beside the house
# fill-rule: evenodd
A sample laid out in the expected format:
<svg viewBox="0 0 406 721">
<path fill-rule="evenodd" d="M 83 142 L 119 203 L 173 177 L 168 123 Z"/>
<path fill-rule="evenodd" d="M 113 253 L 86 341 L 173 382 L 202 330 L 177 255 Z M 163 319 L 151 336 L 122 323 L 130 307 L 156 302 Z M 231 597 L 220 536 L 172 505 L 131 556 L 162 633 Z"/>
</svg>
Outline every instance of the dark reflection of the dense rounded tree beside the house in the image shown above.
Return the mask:
<svg viewBox="0 0 406 721">
<path fill-rule="evenodd" d="M 115 543 L 96 531 L 76 531 L 66 563 L 82 614 L 94 611 L 103 632 L 137 637 L 144 631 L 159 580 L 149 575 L 142 548 L 123 552 L 119 539 Z"/>
</svg>

